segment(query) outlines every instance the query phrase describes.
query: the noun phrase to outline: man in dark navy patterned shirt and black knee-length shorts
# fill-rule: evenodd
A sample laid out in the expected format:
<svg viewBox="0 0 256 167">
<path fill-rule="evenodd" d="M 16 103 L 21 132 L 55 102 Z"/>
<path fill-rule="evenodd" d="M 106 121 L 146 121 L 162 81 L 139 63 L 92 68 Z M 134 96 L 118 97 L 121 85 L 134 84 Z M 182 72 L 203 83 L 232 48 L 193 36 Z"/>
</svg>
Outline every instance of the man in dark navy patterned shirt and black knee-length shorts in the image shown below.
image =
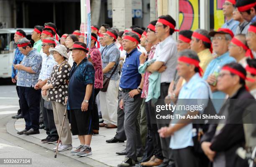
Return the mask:
<svg viewBox="0 0 256 167">
<path fill-rule="evenodd" d="M 74 42 L 72 58 L 74 65 L 70 71 L 68 102 L 72 135 L 78 135 L 81 145 L 71 151 L 81 157 L 92 155 L 92 105 L 95 70 L 86 58 L 88 50 L 82 42 Z"/>
</svg>

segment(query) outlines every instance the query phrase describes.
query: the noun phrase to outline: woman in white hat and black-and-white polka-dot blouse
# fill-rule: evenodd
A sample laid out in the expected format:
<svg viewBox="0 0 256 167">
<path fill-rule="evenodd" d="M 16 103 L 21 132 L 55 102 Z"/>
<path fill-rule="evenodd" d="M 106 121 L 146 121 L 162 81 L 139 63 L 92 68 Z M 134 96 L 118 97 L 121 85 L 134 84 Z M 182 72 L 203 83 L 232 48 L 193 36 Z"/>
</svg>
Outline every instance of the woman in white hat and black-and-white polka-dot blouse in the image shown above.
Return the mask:
<svg viewBox="0 0 256 167">
<path fill-rule="evenodd" d="M 70 65 L 67 62 L 67 48 L 64 45 L 57 45 L 55 48 L 51 47 L 49 51 L 58 64 L 54 66 L 51 77 L 49 78 L 47 84 L 42 87 L 42 95 L 48 95 L 48 100 L 51 100 L 52 102 L 54 122 L 60 137 L 59 140 L 61 140 L 58 147 L 58 151 L 60 152 L 72 149 L 69 120 L 67 118 L 65 119 L 67 113 L 65 97 L 68 96 Z M 57 147 L 55 147 L 53 150 L 56 149 Z"/>
</svg>

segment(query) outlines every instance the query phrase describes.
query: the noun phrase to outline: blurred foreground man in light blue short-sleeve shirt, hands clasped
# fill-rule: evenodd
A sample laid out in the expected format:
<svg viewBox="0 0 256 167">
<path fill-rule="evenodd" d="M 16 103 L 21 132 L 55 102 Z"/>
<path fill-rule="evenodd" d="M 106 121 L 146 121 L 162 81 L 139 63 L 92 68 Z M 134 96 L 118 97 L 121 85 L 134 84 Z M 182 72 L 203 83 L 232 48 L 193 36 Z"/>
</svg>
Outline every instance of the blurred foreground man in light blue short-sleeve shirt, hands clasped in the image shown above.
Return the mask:
<svg viewBox="0 0 256 167">
<path fill-rule="evenodd" d="M 198 105 L 207 104 L 209 97 L 211 97 L 211 90 L 207 82 L 200 76 L 202 69 L 196 52 L 184 50 L 179 52 L 178 55 L 178 75 L 183 77 L 186 83 L 179 92 L 177 104 L 184 104 L 182 99 L 188 99 L 188 103 L 189 99 L 205 99 L 198 103 Z M 187 115 L 187 112 L 192 114 L 190 111 L 175 110 L 174 115 L 182 113 Z M 197 112 L 203 112 L 203 110 Z M 162 127 L 159 130 L 160 137 L 172 136 L 169 147 L 173 151 L 176 167 L 187 167 L 188 164 L 189 167 L 197 167 L 197 158 L 193 152 L 193 127 L 191 122 L 184 123 L 181 120 L 174 119 L 169 127 Z"/>
</svg>

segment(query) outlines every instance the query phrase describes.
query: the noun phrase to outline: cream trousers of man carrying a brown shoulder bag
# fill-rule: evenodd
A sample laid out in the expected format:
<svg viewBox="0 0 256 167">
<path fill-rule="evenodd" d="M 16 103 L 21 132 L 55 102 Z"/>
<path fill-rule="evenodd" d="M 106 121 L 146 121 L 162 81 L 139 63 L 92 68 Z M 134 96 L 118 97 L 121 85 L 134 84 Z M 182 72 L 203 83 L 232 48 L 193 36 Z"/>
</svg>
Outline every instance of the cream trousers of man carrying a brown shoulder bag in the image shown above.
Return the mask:
<svg viewBox="0 0 256 167">
<path fill-rule="evenodd" d="M 104 123 L 117 125 L 118 87 L 120 80 L 110 80 L 107 92 L 100 91 L 100 109 Z"/>
</svg>

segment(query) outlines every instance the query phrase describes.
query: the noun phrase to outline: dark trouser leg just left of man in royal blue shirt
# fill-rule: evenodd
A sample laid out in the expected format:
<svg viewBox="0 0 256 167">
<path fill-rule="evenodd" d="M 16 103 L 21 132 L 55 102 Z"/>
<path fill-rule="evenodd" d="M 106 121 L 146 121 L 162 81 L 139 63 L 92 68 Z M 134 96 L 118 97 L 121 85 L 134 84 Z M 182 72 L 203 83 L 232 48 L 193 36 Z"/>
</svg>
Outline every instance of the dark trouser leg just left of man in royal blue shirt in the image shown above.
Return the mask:
<svg viewBox="0 0 256 167">
<path fill-rule="evenodd" d="M 122 92 L 119 90 L 119 93 L 118 93 L 118 110 L 117 110 L 117 113 L 118 113 L 118 127 L 117 127 L 117 130 L 116 130 L 115 138 L 125 141 L 126 140 L 126 135 L 125 135 L 124 127 L 123 127 L 124 112 L 123 112 L 123 109 L 121 109 L 119 107 L 121 99 L 122 99 Z"/>
</svg>

